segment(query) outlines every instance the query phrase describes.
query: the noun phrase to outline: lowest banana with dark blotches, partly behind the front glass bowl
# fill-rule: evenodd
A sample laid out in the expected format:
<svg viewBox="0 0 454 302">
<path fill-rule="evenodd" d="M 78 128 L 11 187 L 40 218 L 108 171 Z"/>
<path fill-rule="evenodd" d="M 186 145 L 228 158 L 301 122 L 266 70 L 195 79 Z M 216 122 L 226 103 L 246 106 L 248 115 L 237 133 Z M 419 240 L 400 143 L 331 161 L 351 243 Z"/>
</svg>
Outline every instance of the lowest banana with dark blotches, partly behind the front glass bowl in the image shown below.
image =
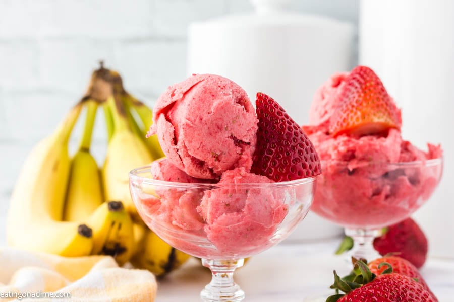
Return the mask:
<svg viewBox="0 0 454 302">
<path fill-rule="evenodd" d="M 147 230 L 145 236 L 142 250 L 131 258 L 131 264 L 137 268 L 148 269 L 156 276 L 163 276 L 180 267 L 190 257 L 168 245 L 150 230 Z"/>
</svg>

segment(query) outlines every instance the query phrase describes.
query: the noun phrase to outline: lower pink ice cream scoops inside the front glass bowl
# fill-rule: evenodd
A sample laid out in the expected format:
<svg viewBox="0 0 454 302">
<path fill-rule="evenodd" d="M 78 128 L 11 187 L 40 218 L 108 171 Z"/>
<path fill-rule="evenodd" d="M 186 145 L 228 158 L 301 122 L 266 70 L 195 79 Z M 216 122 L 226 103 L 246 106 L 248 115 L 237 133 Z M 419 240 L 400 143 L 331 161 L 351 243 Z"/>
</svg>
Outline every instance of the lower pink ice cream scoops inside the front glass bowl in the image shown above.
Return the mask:
<svg viewBox="0 0 454 302">
<path fill-rule="evenodd" d="M 201 181 L 165 158 L 152 163 L 151 174 L 164 181 Z M 225 254 L 247 257 L 273 245 L 270 238 L 288 212 L 282 190 L 242 186 L 251 183 L 273 181 L 244 167 L 236 168 L 225 171 L 211 189 L 182 191 L 170 184 L 168 188 L 148 193 L 141 198 L 140 212 L 147 224 L 156 222 L 160 236 L 177 249 L 199 257 Z M 182 238 L 183 230 L 191 240 Z M 194 241 L 201 242 L 203 247 L 191 243 Z"/>
</svg>

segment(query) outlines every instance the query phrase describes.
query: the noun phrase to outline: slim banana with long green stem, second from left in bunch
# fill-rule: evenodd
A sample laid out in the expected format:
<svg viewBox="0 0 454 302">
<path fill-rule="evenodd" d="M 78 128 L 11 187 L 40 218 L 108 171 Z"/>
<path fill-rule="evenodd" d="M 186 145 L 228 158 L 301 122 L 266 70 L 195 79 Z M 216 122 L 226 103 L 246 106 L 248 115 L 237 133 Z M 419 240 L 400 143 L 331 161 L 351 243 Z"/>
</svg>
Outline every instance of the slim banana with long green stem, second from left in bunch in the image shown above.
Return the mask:
<svg viewBox="0 0 454 302">
<path fill-rule="evenodd" d="M 82 221 L 103 202 L 101 177 L 93 156 L 90 154 L 91 135 L 96 118 L 97 103 L 86 102 L 87 112 L 80 147 L 71 161 L 68 192 L 63 219 Z"/>
</svg>

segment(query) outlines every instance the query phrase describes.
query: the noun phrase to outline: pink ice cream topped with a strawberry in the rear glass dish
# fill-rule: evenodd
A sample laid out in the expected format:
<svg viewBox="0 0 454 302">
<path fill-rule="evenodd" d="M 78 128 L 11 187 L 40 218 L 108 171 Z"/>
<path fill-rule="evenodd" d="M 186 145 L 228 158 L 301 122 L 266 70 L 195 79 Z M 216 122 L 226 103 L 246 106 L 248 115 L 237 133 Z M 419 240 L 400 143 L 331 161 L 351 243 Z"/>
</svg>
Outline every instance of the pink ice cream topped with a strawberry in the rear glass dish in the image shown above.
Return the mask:
<svg viewBox="0 0 454 302">
<path fill-rule="evenodd" d="M 310 122 L 303 129 L 323 171 L 312 209 L 331 221 L 365 229 L 398 222 L 439 181 L 441 147 L 424 152 L 402 138 L 401 111 L 368 67 L 335 74 L 318 89 Z"/>
</svg>

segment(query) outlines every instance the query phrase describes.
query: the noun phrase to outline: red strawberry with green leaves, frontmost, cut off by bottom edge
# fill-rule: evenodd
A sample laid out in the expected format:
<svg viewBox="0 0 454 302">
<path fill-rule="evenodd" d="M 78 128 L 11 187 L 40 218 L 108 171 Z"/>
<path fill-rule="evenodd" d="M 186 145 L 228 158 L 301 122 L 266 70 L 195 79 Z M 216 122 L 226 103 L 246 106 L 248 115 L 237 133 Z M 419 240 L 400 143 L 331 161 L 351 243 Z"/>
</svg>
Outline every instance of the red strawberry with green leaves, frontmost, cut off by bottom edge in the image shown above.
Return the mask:
<svg viewBox="0 0 454 302">
<path fill-rule="evenodd" d="M 344 291 L 346 294 L 335 294 L 326 302 L 436 302 L 420 283 L 414 279 L 392 273 L 388 268 L 382 275 L 373 274 L 367 265 L 357 261 L 361 274 L 350 274 L 340 278 L 334 271 L 334 284 L 331 288 Z"/>
</svg>

